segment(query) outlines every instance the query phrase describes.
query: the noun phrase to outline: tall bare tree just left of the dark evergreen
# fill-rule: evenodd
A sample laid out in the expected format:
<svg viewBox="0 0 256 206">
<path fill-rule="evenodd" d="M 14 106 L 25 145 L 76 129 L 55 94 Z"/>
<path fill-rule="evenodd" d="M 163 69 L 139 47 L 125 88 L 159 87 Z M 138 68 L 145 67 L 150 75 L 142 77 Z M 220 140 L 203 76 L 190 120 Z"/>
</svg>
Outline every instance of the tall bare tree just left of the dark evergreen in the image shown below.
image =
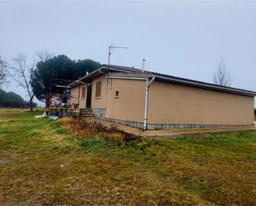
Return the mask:
<svg viewBox="0 0 256 206">
<path fill-rule="evenodd" d="M 33 98 L 35 95 L 31 89 L 31 68 L 27 65 L 27 57 L 25 55 L 17 55 L 17 57 L 12 60 L 12 79 L 14 79 L 17 84 L 27 92 L 29 96 L 30 109 L 33 111 Z"/>
</svg>

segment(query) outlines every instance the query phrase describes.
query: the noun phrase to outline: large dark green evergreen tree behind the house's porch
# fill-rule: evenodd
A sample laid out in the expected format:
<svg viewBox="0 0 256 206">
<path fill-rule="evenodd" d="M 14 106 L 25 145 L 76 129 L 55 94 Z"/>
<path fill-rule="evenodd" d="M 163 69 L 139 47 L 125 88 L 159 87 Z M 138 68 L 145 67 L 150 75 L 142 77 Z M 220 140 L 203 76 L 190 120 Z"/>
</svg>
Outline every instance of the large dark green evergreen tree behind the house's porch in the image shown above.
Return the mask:
<svg viewBox="0 0 256 206">
<path fill-rule="evenodd" d="M 54 79 L 76 80 L 86 72 L 99 69 L 100 64 L 94 60 L 70 60 L 66 55 L 57 55 L 41 60 L 31 71 L 31 87 L 36 98 L 42 100 L 46 94 L 56 93 Z"/>
</svg>

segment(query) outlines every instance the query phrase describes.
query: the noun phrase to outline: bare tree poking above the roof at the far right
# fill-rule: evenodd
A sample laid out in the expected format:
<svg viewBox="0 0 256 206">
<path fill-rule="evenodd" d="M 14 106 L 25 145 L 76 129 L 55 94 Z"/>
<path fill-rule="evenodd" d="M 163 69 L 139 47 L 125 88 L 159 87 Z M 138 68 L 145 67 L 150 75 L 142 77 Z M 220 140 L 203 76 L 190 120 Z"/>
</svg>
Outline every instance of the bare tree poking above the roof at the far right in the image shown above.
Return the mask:
<svg viewBox="0 0 256 206">
<path fill-rule="evenodd" d="M 217 69 L 215 71 L 215 74 L 213 76 L 213 81 L 215 84 L 218 84 L 220 86 L 227 86 L 229 87 L 231 85 L 231 74 L 229 69 L 227 69 L 225 60 L 223 57 L 220 57 L 220 60 L 217 65 Z"/>
</svg>

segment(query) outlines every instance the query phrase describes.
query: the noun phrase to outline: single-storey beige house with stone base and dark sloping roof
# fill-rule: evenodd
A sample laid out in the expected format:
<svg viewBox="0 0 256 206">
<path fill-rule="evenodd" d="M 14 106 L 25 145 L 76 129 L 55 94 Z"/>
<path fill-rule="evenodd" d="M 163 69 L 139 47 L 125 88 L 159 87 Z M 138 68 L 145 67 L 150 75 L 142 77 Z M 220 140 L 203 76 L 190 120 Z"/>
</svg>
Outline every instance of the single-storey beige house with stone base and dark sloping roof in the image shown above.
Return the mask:
<svg viewBox="0 0 256 206">
<path fill-rule="evenodd" d="M 253 91 L 132 67 L 102 65 L 70 84 L 70 95 L 96 118 L 142 129 L 254 124 Z"/>
</svg>

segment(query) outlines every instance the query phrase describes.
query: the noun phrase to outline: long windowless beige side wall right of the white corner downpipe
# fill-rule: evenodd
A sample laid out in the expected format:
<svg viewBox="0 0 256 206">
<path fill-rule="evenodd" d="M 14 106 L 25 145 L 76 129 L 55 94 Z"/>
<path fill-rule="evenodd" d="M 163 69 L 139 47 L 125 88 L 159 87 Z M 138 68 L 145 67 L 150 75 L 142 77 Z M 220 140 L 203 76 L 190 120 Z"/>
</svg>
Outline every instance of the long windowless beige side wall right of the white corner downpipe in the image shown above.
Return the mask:
<svg viewBox="0 0 256 206">
<path fill-rule="evenodd" d="M 160 81 L 149 89 L 148 123 L 254 123 L 254 98 Z"/>
</svg>

